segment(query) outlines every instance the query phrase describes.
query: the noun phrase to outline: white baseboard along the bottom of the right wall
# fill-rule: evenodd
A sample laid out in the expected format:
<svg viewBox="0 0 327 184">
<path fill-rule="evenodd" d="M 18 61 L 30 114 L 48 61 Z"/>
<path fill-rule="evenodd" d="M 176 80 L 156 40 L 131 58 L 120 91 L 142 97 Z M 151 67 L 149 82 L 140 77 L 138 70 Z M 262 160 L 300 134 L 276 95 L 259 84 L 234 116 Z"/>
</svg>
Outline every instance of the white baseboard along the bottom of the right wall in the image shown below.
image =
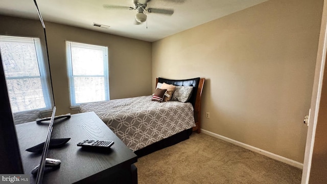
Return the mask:
<svg viewBox="0 0 327 184">
<path fill-rule="evenodd" d="M 217 133 L 213 133 L 213 132 L 210 132 L 210 131 L 207 131 L 207 130 L 201 129 L 201 133 L 204 133 L 204 134 L 207 134 L 207 135 L 211 135 L 211 136 L 216 137 L 218 139 L 221 139 L 223 141 L 226 141 L 226 142 L 235 144 L 237 146 L 240 146 L 242 148 L 245 148 L 245 149 L 254 151 L 256 153 L 260 153 L 262 155 L 268 156 L 269 158 L 272 158 L 272 159 L 278 160 L 280 162 L 289 164 L 289 165 L 294 166 L 294 167 L 297 167 L 299 169 L 303 169 L 303 164 L 302 163 L 299 163 L 299 162 L 296 162 L 295 160 L 292 160 L 292 159 L 289 159 L 289 158 L 286 158 L 286 157 L 283 157 L 283 156 L 279 156 L 277 154 L 274 154 L 274 153 L 271 153 L 271 152 L 268 152 L 268 151 L 265 151 L 265 150 L 262 150 L 262 149 L 259 149 L 259 148 L 256 148 L 256 147 L 253 147 L 253 146 L 244 144 L 244 143 L 241 143 L 239 141 L 235 141 L 235 140 L 229 139 L 228 137 L 225 137 L 225 136 L 222 136 L 222 135 L 219 135 Z"/>
</svg>

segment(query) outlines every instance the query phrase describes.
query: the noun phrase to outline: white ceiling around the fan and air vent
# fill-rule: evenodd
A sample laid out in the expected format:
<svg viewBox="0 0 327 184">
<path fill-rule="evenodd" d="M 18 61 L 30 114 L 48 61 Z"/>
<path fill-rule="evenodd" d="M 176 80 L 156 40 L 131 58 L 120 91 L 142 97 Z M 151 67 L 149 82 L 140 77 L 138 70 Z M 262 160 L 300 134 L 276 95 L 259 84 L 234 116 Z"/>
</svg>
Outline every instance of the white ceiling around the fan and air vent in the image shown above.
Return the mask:
<svg viewBox="0 0 327 184">
<path fill-rule="evenodd" d="M 268 0 L 151 0 L 147 8 L 173 9 L 174 14 L 147 13 L 147 22 L 142 25 L 134 25 L 137 10 L 103 7 L 134 7 L 133 0 L 36 1 L 43 20 L 152 42 Z M 1 0 L 0 14 L 38 19 L 33 0 Z M 95 27 L 93 23 L 110 28 Z"/>
</svg>

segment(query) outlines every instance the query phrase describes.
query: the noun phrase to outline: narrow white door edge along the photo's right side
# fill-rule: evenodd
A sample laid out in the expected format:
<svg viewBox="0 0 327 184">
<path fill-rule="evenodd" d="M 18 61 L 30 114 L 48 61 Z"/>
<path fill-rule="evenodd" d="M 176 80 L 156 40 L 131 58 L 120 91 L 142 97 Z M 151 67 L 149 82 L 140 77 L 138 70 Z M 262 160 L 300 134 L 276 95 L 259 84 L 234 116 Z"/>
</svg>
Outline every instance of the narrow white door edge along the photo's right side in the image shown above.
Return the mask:
<svg viewBox="0 0 327 184">
<path fill-rule="evenodd" d="M 313 146 L 314 146 L 318 112 L 319 112 L 319 106 L 320 106 L 320 97 L 322 95 L 324 95 L 324 96 L 327 95 L 327 94 L 321 94 L 323 72 L 324 72 L 324 65 L 325 65 L 325 59 L 326 59 L 326 47 L 327 47 L 327 40 L 326 40 L 327 39 L 327 35 L 326 35 L 327 5 L 326 5 L 326 3 L 327 3 L 327 0 L 324 0 L 322 18 L 321 18 L 321 28 L 320 28 L 317 61 L 316 61 L 316 71 L 315 71 L 315 78 L 314 78 L 312 98 L 311 98 L 311 107 L 310 107 L 311 110 L 310 110 L 310 114 L 309 114 L 307 144 L 306 144 L 305 159 L 303 162 L 301 184 L 306 184 L 309 182 L 311 160 L 312 160 L 312 154 L 313 154 Z M 327 77 L 325 77 L 325 80 L 327 80 Z"/>
</svg>

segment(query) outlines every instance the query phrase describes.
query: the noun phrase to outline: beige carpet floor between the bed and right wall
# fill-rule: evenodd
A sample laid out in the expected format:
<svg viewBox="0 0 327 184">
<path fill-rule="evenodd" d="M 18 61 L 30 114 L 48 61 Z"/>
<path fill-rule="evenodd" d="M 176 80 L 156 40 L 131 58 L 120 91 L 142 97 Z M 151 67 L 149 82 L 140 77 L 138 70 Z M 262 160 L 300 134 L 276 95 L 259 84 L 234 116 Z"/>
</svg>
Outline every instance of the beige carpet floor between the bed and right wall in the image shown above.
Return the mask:
<svg viewBox="0 0 327 184">
<path fill-rule="evenodd" d="M 301 183 L 302 170 L 193 133 L 189 140 L 138 158 L 138 183 Z"/>
</svg>

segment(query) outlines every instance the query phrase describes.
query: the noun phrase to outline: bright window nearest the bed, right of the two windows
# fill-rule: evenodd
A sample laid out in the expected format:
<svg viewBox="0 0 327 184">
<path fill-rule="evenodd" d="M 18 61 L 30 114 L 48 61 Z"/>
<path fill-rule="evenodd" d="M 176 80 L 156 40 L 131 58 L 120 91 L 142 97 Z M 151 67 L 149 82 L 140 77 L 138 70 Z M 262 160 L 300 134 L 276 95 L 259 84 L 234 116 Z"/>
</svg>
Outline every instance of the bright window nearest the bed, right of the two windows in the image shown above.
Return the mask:
<svg viewBox="0 0 327 184">
<path fill-rule="evenodd" d="M 108 47 L 66 41 L 71 105 L 109 100 Z"/>
</svg>

